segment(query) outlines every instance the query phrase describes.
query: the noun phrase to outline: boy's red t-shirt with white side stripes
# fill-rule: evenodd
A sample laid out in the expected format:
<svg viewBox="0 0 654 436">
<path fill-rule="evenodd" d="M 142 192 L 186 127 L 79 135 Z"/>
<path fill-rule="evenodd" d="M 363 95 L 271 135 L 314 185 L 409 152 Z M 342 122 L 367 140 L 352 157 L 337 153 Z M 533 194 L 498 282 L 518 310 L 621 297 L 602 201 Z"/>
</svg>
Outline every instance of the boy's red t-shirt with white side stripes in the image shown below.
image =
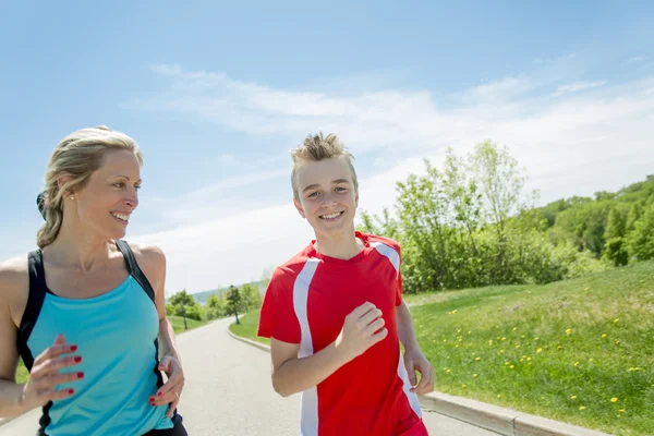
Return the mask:
<svg viewBox="0 0 654 436">
<path fill-rule="evenodd" d="M 303 436 L 426 435 L 400 353 L 396 306 L 401 304 L 397 242 L 356 232 L 365 246 L 349 261 L 323 256 L 312 242 L 272 274 L 258 336 L 299 343 L 299 358 L 334 342 L 344 318 L 370 301 L 388 336 L 302 392 Z"/>
</svg>

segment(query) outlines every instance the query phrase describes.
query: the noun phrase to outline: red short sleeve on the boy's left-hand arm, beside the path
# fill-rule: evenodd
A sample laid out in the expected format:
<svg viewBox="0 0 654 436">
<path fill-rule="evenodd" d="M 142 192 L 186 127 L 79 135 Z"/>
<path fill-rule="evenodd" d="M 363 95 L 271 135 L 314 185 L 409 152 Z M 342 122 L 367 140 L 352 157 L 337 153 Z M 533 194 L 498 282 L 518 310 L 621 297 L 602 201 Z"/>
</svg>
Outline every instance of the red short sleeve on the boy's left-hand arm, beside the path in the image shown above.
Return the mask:
<svg viewBox="0 0 654 436">
<path fill-rule="evenodd" d="M 293 283 L 289 272 L 281 268 L 275 270 L 264 295 L 257 336 L 300 343 L 300 323 L 293 308 Z"/>
</svg>

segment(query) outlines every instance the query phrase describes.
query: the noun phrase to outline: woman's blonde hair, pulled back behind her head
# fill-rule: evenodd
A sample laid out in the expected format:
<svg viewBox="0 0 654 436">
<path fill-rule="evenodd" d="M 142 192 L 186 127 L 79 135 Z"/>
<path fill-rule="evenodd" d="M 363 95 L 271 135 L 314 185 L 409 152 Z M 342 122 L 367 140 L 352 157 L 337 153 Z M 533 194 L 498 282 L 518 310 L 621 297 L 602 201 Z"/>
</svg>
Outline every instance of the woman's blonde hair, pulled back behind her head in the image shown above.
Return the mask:
<svg viewBox="0 0 654 436">
<path fill-rule="evenodd" d="M 46 223 L 36 235 L 37 245 L 50 245 L 63 221 L 63 194 L 84 187 L 90 174 L 102 166 L 104 158 L 111 150 L 134 153 L 138 165 L 143 165 L 143 154 L 130 136 L 112 131 L 105 125 L 82 129 L 64 137 L 52 152 L 45 175 L 46 190 L 39 196 L 39 208 Z M 59 179 L 70 180 L 59 185 Z"/>
</svg>

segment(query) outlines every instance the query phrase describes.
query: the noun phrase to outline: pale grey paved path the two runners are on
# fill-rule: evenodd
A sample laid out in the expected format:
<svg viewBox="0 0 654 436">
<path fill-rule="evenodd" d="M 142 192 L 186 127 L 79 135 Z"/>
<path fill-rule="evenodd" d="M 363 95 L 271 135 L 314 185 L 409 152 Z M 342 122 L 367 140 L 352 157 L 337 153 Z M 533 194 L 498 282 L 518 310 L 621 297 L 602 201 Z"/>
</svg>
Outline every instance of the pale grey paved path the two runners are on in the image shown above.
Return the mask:
<svg viewBox="0 0 654 436">
<path fill-rule="evenodd" d="M 221 319 L 178 338 L 186 387 L 180 413 L 192 436 L 298 435 L 300 396 L 281 398 L 270 386 L 268 353 L 231 338 Z M 210 374 L 211 376 L 207 376 Z M 38 411 L 0 426 L 0 436 L 34 436 Z M 431 435 L 497 436 L 472 425 L 424 413 Z"/>
</svg>

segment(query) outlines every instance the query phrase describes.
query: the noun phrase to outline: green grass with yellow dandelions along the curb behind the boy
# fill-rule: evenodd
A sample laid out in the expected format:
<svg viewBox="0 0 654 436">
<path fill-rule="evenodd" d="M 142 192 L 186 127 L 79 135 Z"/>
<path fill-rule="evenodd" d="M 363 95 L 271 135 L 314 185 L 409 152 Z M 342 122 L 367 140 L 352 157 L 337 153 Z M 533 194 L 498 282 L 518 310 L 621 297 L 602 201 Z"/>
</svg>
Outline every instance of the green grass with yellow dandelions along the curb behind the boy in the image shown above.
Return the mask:
<svg viewBox="0 0 654 436">
<path fill-rule="evenodd" d="M 615 435 L 654 428 L 654 263 L 407 295 L 436 389 Z M 255 339 L 258 316 L 234 334 Z"/>
</svg>

